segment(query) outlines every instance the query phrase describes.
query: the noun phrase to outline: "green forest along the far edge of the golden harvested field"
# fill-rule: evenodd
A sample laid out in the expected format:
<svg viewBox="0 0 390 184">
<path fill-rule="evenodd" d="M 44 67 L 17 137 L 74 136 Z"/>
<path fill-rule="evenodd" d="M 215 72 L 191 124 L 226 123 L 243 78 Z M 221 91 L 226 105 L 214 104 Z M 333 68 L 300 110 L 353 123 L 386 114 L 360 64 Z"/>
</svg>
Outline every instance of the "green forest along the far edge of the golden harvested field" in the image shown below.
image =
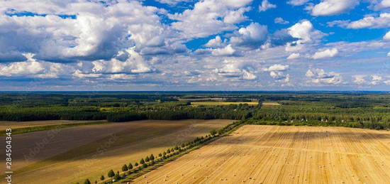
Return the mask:
<svg viewBox="0 0 390 184">
<path fill-rule="evenodd" d="M 328 102 L 288 103 L 277 107 L 263 107 L 261 110 L 256 110 L 251 119 L 279 121 L 281 124 L 284 121 L 293 121 L 294 124 L 299 122 L 306 124 L 308 122 L 308 124 L 324 126 L 390 129 L 390 109 L 388 107 L 372 107 L 374 104 L 367 104 L 367 107 L 341 108 L 335 107 L 333 103 Z"/>
</svg>

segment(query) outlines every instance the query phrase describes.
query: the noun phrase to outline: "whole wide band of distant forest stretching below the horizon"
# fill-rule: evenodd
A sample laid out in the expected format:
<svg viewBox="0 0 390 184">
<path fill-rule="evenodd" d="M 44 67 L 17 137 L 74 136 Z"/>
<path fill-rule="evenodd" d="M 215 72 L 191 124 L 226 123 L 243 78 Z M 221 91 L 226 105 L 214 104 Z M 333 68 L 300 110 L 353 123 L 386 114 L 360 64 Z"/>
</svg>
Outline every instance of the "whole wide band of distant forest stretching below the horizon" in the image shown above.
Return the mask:
<svg viewBox="0 0 390 184">
<path fill-rule="evenodd" d="M 243 104 L 194 106 L 202 101 Z M 245 102 L 260 102 L 248 105 Z M 262 102 L 278 106 L 262 107 Z M 357 92 L 2 92 L 1 121 L 240 119 L 252 124 L 390 129 L 390 94 Z"/>
</svg>

